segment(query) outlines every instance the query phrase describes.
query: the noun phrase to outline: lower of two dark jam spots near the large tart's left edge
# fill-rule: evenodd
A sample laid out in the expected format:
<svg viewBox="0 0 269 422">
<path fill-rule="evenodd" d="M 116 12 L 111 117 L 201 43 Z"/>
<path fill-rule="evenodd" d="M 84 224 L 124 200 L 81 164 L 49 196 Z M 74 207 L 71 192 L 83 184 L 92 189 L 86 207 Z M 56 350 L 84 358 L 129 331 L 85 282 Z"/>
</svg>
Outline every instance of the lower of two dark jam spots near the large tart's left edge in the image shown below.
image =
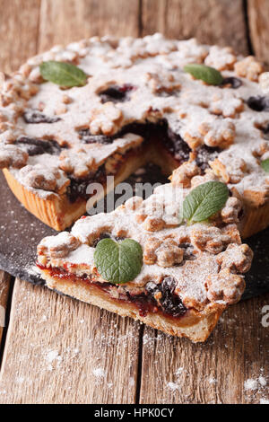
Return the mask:
<svg viewBox="0 0 269 422">
<path fill-rule="evenodd" d="M 61 153 L 61 146 L 54 140 L 36 139 L 22 136 L 15 142 L 16 145 L 22 145 L 25 151 L 30 155 L 50 154 L 59 155 Z"/>
</svg>

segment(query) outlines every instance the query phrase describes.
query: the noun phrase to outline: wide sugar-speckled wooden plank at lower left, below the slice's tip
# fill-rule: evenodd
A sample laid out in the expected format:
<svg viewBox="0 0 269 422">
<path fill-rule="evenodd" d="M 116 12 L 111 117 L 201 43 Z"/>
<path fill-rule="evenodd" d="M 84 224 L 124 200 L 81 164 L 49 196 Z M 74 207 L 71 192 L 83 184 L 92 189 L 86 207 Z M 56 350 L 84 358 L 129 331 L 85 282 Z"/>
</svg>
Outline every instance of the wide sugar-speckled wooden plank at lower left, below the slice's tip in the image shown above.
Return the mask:
<svg viewBox="0 0 269 422">
<path fill-rule="evenodd" d="M 139 328 L 16 280 L 0 403 L 134 403 Z"/>
</svg>

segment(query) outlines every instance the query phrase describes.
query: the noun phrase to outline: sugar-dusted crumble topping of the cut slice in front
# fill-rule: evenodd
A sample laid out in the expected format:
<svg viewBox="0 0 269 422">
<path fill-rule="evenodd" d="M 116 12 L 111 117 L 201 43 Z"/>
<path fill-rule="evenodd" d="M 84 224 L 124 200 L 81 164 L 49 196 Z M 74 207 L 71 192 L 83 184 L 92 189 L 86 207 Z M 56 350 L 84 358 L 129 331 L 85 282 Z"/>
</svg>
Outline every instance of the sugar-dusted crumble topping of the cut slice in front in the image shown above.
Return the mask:
<svg viewBox="0 0 269 422">
<path fill-rule="evenodd" d="M 163 282 L 169 278 L 178 301 L 186 308 L 200 311 L 235 303 L 243 292 L 241 275 L 250 267 L 252 252 L 241 244 L 236 224 L 225 224 L 221 218 L 215 226 L 182 224 L 178 215 L 189 191 L 169 183 L 156 188 L 145 200 L 128 199 L 112 213 L 82 217 L 71 233 L 39 243 L 39 264 L 108 284 L 95 266 L 95 247 L 104 238 L 117 242 L 130 238 L 143 248 L 143 267 L 133 281 L 109 287 L 111 295 L 128 292 L 135 298 L 149 295 L 150 289 L 155 300 L 162 300 Z M 238 208 L 238 200 L 231 199 L 226 207 Z"/>
</svg>

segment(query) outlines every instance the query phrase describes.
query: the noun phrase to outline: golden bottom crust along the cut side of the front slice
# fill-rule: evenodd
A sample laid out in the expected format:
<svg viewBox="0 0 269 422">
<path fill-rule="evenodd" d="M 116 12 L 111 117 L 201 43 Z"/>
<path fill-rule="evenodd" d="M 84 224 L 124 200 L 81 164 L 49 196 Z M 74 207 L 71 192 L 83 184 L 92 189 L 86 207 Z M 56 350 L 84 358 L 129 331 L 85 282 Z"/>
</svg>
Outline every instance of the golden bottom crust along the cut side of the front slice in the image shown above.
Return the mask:
<svg viewBox="0 0 269 422">
<path fill-rule="evenodd" d="M 82 302 L 91 303 L 109 312 L 117 313 L 122 317 L 130 317 L 135 321 L 141 321 L 153 329 L 161 330 L 166 334 L 189 338 L 195 343 L 203 342 L 209 337 L 224 309 L 224 307 L 216 305 L 211 312 L 188 310 L 187 314 L 179 318 L 169 317 L 160 312 L 148 312 L 142 316 L 134 303 L 116 301 L 105 291 L 94 286 L 94 284 L 86 284 L 79 278 L 75 282 L 65 277 L 57 279 L 50 276 L 48 269 L 39 270 L 42 277 L 46 280 L 47 286 L 52 290 Z"/>
</svg>

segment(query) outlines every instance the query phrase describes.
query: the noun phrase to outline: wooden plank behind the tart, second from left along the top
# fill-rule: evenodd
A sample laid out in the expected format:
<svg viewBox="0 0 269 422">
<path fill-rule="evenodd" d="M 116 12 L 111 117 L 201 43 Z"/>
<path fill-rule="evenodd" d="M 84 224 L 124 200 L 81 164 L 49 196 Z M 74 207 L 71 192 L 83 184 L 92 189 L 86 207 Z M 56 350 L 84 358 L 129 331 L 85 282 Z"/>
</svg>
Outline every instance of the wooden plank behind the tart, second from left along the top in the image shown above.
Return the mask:
<svg viewBox="0 0 269 422">
<path fill-rule="evenodd" d="M 139 0 L 42 0 L 39 49 L 95 35 L 137 37 Z"/>
</svg>

